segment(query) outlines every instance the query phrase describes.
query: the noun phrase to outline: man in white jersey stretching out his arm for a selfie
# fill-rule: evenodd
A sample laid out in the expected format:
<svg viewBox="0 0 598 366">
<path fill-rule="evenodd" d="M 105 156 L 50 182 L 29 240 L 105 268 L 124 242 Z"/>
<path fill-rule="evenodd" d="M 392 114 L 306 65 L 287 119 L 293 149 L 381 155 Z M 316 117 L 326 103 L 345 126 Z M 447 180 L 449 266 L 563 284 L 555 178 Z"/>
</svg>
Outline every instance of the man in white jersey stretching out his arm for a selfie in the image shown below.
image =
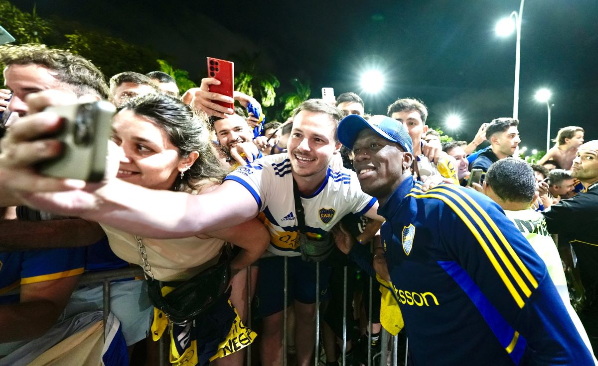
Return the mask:
<svg viewBox="0 0 598 366">
<path fill-rule="evenodd" d="M 68 103 L 63 94 L 56 92 L 30 97 L 33 109 L 37 111 L 48 104 L 65 100 Z M 212 192 L 190 195 L 144 189 L 120 179 L 84 184 L 36 176 L 32 170 L 23 168 L 57 156 L 60 145 L 56 140 L 50 140 L 44 144 L 47 149 L 39 146 L 32 149 L 31 142 L 48 136 L 48 131 L 54 131 L 61 121 L 52 113 L 33 114 L 17 121 L 2 141 L 0 186 L 20 195 L 29 205 L 86 217 L 152 238 L 199 235 L 246 222 L 260 214 L 272 236 L 270 250 L 275 254 L 293 256 L 292 262 L 298 263 L 301 259 L 295 243 L 298 227 L 293 180 L 297 183 L 304 207 L 307 235 L 327 233 L 349 212 L 364 213 L 367 217 L 382 220 L 376 214 L 377 202 L 361 192 L 355 173 L 329 170 L 332 156 L 340 149 L 336 129 L 341 118 L 343 113 L 336 107 L 322 100 L 307 100 L 295 112 L 287 154 L 258 159 L 232 173 Z M 85 189 L 72 189 L 84 185 Z M 44 190 L 65 191 L 39 193 Z M 313 276 L 303 272 L 303 264 L 310 265 L 298 263 L 297 271 L 301 272 L 301 276 Z M 282 277 L 282 273 L 277 276 Z M 296 278 L 295 282 L 309 282 L 309 279 Z M 312 286 L 315 288 L 315 284 Z M 298 290 L 299 293 L 301 291 L 305 293 L 306 288 Z M 292 293 L 290 295 L 289 299 L 292 299 Z M 282 303 L 282 293 L 279 296 Z M 314 349 L 315 304 L 310 300 L 307 296 L 298 296 L 294 302 L 297 319 L 301 320 L 297 322 L 295 332 L 300 365 L 309 365 Z M 281 343 L 282 311 L 276 311 L 264 318 L 262 364 L 281 363 Z"/>
</svg>

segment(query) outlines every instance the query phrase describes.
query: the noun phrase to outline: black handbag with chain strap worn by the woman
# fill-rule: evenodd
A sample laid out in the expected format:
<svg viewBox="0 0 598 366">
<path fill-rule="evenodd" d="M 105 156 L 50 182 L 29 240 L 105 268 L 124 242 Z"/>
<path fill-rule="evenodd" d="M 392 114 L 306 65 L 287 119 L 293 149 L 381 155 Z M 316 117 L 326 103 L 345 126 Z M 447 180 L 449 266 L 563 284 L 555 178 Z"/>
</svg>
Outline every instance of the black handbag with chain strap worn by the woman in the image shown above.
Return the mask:
<svg viewBox="0 0 598 366">
<path fill-rule="evenodd" d="M 160 309 L 175 324 L 186 324 L 194 321 L 203 312 L 210 309 L 216 300 L 230 295 L 230 253 L 228 245 L 222 248 L 218 263 L 203 270 L 184 282 L 164 282 L 164 285 L 175 286 L 175 289 L 162 296 L 160 281 L 154 279 L 151 267 L 145 256 L 142 238 L 135 236 L 139 244 L 139 252 L 144 261 L 145 280 L 148 285 L 148 296 L 152 305 Z"/>
</svg>

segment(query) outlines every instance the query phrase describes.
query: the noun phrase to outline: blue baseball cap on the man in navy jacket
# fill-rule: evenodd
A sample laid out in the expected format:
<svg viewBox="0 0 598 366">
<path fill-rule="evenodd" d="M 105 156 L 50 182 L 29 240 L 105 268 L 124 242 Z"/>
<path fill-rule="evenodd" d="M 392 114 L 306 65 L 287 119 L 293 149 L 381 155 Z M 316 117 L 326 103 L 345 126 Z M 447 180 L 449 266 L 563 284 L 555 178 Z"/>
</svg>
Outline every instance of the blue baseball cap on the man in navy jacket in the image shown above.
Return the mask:
<svg viewBox="0 0 598 366">
<path fill-rule="evenodd" d="M 365 121 L 359 115 L 346 116 L 338 125 L 338 141 L 353 150 L 357 135 L 365 128 L 370 128 L 386 140 L 398 143 L 405 152 L 413 152 L 413 142 L 407 128 L 396 119 L 382 115 L 371 116 L 370 121 Z"/>
</svg>

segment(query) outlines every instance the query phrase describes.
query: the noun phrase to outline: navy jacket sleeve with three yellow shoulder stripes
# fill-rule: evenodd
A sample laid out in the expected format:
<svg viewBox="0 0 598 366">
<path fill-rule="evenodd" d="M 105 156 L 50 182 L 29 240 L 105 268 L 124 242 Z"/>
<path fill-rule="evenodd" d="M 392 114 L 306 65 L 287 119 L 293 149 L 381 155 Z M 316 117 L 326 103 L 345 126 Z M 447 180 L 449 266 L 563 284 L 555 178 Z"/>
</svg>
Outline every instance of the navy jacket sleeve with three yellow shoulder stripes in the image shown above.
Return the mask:
<svg viewBox="0 0 598 366">
<path fill-rule="evenodd" d="M 441 267 L 477 307 L 515 364 L 593 364 L 542 260 L 498 205 L 440 187 Z M 530 349 L 535 352 L 529 352 Z"/>
</svg>

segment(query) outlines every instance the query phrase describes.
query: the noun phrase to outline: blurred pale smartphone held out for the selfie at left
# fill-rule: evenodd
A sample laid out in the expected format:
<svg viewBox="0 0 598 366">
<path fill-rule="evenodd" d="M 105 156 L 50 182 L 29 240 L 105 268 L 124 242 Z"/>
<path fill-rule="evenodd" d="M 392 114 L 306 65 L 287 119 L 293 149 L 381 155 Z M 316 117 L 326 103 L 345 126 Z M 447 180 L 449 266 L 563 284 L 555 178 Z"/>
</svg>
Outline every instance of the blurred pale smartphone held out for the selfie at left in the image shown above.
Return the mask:
<svg viewBox="0 0 598 366">
<path fill-rule="evenodd" d="M 110 127 L 116 113 L 112 103 L 100 101 L 51 106 L 45 111 L 57 113 L 65 119 L 65 125 L 57 136 L 64 143 L 64 150 L 60 158 L 39 164 L 39 173 L 88 182 L 104 179 Z"/>
</svg>

